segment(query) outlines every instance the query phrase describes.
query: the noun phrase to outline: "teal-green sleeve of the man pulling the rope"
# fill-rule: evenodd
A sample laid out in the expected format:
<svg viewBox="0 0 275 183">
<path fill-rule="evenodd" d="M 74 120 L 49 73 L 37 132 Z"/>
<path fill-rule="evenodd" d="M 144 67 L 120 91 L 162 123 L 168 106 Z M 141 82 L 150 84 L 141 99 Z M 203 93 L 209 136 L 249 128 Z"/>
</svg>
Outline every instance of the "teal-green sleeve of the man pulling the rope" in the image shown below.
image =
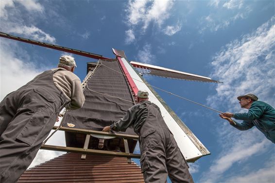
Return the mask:
<svg viewBox="0 0 275 183">
<path fill-rule="evenodd" d="M 263 113 L 264 113 L 263 106 L 259 104 L 255 104 L 255 105 L 252 104 L 247 113 L 235 113 L 233 117 L 239 120 L 252 121 L 260 118 L 260 116 L 262 116 Z"/>
</svg>

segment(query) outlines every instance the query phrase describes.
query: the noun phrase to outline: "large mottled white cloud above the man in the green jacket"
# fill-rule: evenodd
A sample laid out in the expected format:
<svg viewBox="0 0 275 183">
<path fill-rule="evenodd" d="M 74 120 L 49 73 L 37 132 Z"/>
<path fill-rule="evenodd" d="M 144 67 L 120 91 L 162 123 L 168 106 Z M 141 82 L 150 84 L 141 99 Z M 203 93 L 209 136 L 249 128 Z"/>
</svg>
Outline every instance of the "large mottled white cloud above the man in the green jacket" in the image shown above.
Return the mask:
<svg viewBox="0 0 275 183">
<path fill-rule="evenodd" d="M 255 93 L 260 100 L 270 101 L 274 105 L 275 69 L 271 69 L 275 67 L 274 22 L 275 17 L 254 33 L 227 44 L 213 58 L 212 77 L 224 82 L 216 88 L 218 100 L 228 100 L 228 108 L 236 104 L 236 101 L 231 99 L 236 99 L 244 93 Z M 217 96 L 215 99 L 208 98 L 208 101 L 217 100 Z"/>
</svg>

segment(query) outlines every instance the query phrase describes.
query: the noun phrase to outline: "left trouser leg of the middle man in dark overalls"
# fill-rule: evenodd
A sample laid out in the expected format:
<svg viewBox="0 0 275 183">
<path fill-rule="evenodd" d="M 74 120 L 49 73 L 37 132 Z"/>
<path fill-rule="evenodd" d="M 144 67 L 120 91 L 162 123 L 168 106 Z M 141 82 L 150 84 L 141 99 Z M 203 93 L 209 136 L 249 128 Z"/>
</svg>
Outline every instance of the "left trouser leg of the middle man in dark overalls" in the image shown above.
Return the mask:
<svg viewBox="0 0 275 183">
<path fill-rule="evenodd" d="M 151 133 L 140 142 L 140 164 L 145 183 L 167 183 L 165 147 L 159 132 Z"/>
</svg>

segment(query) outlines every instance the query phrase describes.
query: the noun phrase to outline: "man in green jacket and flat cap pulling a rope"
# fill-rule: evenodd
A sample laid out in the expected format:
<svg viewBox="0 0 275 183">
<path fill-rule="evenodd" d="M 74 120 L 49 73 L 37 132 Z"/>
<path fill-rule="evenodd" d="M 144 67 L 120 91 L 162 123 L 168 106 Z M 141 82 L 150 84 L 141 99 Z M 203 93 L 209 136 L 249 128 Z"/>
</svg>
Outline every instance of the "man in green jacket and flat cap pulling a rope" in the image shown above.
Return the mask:
<svg viewBox="0 0 275 183">
<path fill-rule="evenodd" d="M 248 112 L 222 113 L 220 116 L 238 130 L 248 130 L 256 126 L 267 139 L 275 143 L 275 109 L 263 101 L 258 101 L 258 97 L 254 94 L 239 96 L 237 99 L 240 100 L 241 108 L 248 109 Z M 231 117 L 243 121 L 238 123 Z"/>
</svg>

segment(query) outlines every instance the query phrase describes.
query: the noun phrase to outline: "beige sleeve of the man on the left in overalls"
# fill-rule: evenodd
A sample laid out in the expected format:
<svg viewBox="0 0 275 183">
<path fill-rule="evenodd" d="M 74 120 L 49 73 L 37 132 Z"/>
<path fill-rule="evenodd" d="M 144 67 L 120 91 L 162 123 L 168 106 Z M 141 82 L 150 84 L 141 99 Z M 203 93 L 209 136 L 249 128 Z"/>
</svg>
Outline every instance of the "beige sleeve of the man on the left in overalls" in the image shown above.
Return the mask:
<svg viewBox="0 0 275 183">
<path fill-rule="evenodd" d="M 82 91 L 80 80 L 74 80 L 71 83 L 71 101 L 66 105 L 66 109 L 75 110 L 83 106 L 85 97 Z"/>
</svg>

